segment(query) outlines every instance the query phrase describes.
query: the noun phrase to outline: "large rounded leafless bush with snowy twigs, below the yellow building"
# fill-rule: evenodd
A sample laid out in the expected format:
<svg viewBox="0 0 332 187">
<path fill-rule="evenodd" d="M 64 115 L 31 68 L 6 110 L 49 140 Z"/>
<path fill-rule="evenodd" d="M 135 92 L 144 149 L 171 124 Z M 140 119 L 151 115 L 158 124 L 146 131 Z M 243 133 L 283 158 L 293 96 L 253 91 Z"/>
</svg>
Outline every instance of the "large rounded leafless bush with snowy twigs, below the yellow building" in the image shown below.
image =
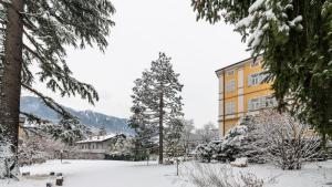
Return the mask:
<svg viewBox="0 0 332 187">
<path fill-rule="evenodd" d="M 287 113 L 267 110 L 256 116 L 256 144 L 263 148 L 267 159 L 282 169 L 301 169 L 304 162 L 320 154 L 320 137 L 310 126 Z"/>
</svg>

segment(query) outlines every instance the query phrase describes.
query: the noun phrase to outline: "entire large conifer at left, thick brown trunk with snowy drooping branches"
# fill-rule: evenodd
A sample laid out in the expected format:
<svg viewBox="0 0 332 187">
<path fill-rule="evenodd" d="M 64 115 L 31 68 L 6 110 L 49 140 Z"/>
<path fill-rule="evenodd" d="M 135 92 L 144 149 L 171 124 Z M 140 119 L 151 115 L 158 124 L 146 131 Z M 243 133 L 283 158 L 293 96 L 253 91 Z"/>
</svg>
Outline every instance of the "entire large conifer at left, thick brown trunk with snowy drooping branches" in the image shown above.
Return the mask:
<svg viewBox="0 0 332 187">
<path fill-rule="evenodd" d="M 0 125 L 12 154 L 18 147 L 21 87 L 58 112 L 66 131 L 77 129 L 77 118 L 35 90 L 33 83 L 38 80 L 61 96 L 80 95 L 94 104 L 98 95 L 93 86 L 72 76 L 65 46 L 83 49 L 96 43 L 104 51 L 114 11 L 108 0 L 0 1 Z M 32 66 L 38 70 L 32 71 Z M 22 114 L 37 120 L 32 114 Z"/>
</svg>

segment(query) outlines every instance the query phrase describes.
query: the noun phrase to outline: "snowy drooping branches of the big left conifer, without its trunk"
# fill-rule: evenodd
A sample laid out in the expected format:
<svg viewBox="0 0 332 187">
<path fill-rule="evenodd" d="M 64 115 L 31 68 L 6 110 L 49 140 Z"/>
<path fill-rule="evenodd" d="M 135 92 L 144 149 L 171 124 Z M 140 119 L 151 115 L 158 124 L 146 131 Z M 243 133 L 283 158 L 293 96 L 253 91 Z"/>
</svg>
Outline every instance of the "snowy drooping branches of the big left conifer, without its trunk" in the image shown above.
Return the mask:
<svg viewBox="0 0 332 187">
<path fill-rule="evenodd" d="M 65 62 L 65 48 L 84 49 L 86 45 L 96 44 L 101 51 L 104 51 L 107 46 L 106 37 L 110 34 L 111 27 L 114 25 L 110 18 L 115 9 L 108 0 L 33 0 L 22 1 L 22 3 L 24 11 L 20 13 L 20 18 L 25 40 L 22 41 L 21 86 L 42 98 L 46 106 L 62 117 L 59 126 L 48 126 L 46 128 L 50 129 L 50 133 L 55 133 L 54 137 L 62 138 L 72 133 L 82 133 L 84 128 L 79 129 L 82 125 L 79 125 L 77 118 L 54 100 L 35 90 L 33 83 L 42 82 L 49 90 L 61 96 L 80 95 L 83 100 L 94 104 L 98 100 L 97 92 L 92 85 L 82 83 L 72 76 Z M 2 41 L 6 40 L 7 10 L 9 8 L 11 8 L 10 2 L 2 2 L 0 6 L 1 51 L 6 51 Z M 0 63 L 0 86 L 2 61 L 3 59 Z M 40 122 L 33 114 L 22 113 L 22 115 L 31 122 Z M 53 127 L 54 129 L 52 129 Z M 80 136 L 82 134 L 79 134 Z M 73 139 L 66 141 L 73 142 Z"/>
</svg>

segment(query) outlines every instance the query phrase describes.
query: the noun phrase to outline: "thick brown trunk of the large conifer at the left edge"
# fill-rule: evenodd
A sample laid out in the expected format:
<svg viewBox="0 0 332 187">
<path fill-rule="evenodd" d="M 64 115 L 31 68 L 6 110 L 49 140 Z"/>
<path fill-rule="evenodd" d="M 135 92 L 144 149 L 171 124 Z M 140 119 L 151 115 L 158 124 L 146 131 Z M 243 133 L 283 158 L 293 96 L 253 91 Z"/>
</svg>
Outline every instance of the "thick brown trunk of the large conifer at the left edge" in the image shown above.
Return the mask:
<svg viewBox="0 0 332 187">
<path fill-rule="evenodd" d="M 13 156 L 18 150 L 19 110 L 21 95 L 22 34 L 23 22 L 19 12 L 23 12 L 23 0 L 12 0 L 7 10 L 4 40 L 4 61 L 1 77 L 0 125 L 11 144 Z"/>
</svg>

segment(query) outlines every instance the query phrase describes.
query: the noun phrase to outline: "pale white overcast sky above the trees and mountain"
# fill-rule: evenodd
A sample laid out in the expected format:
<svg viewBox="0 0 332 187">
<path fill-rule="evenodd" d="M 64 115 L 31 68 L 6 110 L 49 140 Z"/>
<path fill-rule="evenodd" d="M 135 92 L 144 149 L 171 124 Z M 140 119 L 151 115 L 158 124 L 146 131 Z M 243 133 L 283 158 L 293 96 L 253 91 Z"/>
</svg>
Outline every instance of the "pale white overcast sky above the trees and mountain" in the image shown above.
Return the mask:
<svg viewBox="0 0 332 187">
<path fill-rule="evenodd" d="M 196 22 L 190 0 L 112 0 L 116 8 L 116 25 L 108 38 L 105 53 L 96 49 L 69 49 L 68 63 L 74 76 L 91 83 L 100 93 L 95 106 L 79 98 L 61 98 L 65 106 L 92 110 L 117 117 L 128 117 L 134 80 L 149 67 L 158 52 L 172 56 L 180 73 L 184 112 L 200 127 L 217 124 L 217 69 L 249 56 L 232 25 Z"/>
</svg>

